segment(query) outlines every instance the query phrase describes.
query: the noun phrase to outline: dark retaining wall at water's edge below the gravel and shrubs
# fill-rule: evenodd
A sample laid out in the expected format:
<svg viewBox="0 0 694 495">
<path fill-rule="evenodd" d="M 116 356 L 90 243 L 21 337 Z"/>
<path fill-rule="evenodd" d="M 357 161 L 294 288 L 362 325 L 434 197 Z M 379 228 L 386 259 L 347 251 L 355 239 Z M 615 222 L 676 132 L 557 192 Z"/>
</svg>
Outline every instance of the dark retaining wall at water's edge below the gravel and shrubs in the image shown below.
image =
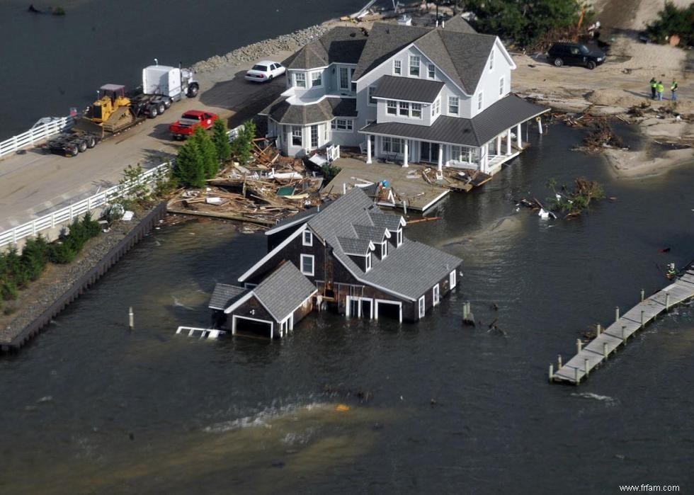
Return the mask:
<svg viewBox="0 0 694 495">
<path fill-rule="evenodd" d="M 111 266 L 118 263 L 118 260 L 120 260 L 127 251 L 130 251 L 130 248 L 135 246 L 147 232 L 152 230 L 154 225 L 157 224 L 159 219 L 164 217 L 164 215 L 166 215 L 165 202 L 160 203 L 154 210 L 149 212 L 149 215 L 144 217 L 140 224 L 137 224 L 134 229 L 128 232 L 118 244 L 108 251 L 106 256 L 101 258 L 101 261 L 96 263 L 96 266 L 82 275 L 67 292 L 64 292 L 63 295 L 58 297 L 37 319 L 25 326 L 21 331 L 18 331 L 11 339 L 0 341 L 0 351 L 18 351 L 18 349 L 22 348 L 30 338 L 39 333 L 43 326 L 49 324 L 51 319 L 65 309 L 72 301 L 76 300 L 90 285 L 96 283 L 96 280 L 101 278 L 101 275 L 106 273 Z"/>
</svg>

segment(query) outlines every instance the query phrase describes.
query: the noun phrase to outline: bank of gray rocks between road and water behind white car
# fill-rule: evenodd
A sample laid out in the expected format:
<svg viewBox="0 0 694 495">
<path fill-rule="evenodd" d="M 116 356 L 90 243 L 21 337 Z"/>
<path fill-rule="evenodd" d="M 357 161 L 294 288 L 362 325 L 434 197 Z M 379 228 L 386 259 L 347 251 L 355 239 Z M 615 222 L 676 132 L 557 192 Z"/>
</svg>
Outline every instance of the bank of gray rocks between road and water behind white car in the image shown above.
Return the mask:
<svg viewBox="0 0 694 495">
<path fill-rule="evenodd" d="M 319 38 L 332 26 L 329 23 L 312 25 L 309 28 L 300 29 L 294 33 L 280 35 L 277 38 L 262 40 L 251 45 L 237 48 L 226 55 L 215 55 L 201 62 L 193 64 L 195 72 L 210 72 L 227 65 L 255 62 L 269 53 L 282 51 L 294 52 L 307 43 Z"/>
</svg>

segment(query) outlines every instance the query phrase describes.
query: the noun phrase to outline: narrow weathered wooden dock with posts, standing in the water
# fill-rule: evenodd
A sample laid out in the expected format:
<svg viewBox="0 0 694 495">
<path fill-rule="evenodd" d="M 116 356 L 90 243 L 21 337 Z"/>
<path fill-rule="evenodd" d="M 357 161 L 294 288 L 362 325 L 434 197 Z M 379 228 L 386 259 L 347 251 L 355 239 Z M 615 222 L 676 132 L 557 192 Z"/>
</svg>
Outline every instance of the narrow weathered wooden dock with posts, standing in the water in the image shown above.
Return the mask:
<svg viewBox="0 0 694 495">
<path fill-rule="evenodd" d="M 611 353 L 617 351 L 619 346 L 625 346 L 627 340 L 643 329 L 644 326 L 656 319 L 662 312 L 667 312 L 671 307 L 694 297 L 694 266 L 689 266 L 682 275 L 674 279 L 674 282 L 666 288 L 659 290 L 651 297 L 644 299 L 641 291 L 641 302 L 628 312 L 620 316 L 619 308 L 615 307 L 615 322 L 601 331 L 598 325 L 598 336 L 581 346 L 581 340 L 576 341 L 576 350 L 568 363 L 562 365 L 561 358 L 557 363 L 557 372 L 550 365 L 549 377 L 551 382 L 568 382 L 579 385 L 590 373 L 608 360 Z"/>
</svg>

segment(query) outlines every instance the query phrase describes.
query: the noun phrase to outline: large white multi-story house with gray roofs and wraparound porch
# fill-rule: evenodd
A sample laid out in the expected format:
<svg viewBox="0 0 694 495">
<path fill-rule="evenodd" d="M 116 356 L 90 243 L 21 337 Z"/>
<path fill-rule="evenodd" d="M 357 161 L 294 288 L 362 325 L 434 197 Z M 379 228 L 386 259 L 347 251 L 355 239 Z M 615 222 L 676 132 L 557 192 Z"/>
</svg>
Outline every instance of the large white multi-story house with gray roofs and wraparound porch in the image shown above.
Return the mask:
<svg viewBox="0 0 694 495">
<path fill-rule="evenodd" d="M 285 154 L 329 145 L 386 159 L 496 173 L 521 124 L 548 108 L 510 93 L 504 44 L 455 17 L 438 28 L 334 28 L 285 63 L 288 89 L 261 112 Z"/>
</svg>

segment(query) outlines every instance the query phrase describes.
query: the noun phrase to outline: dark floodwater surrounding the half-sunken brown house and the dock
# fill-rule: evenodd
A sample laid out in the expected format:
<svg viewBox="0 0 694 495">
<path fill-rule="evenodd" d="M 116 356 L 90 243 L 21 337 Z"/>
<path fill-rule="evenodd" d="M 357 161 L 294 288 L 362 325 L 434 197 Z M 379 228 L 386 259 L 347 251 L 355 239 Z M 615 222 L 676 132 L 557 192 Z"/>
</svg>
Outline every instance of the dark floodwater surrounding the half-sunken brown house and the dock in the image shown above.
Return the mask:
<svg viewBox="0 0 694 495">
<path fill-rule="evenodd" d="M 155 231 L 0 358 L 0 493 L 690 491 L 694 308 L 580 387 L 547 383 L 589 325 L 694 257 L 694 169 L 616 180 L 600 157 L 568 151 L 580 137 L 531 134 L 493 181 L 441 203 L 444 220 L 407 227 L 465 260 L 457 290 L 416 324 L 311 314 L 272 343 L 175 335 L 209 322 L 215 283 L 266 243 L 215 222 Z M 569 221 L 516 212 L 514 199 L 576 176 L 615 200 Z M 461 324 L 465 300 L 474 328 Z M 503 333 L 489 331 L 495 319 Z"/>
</svg>

